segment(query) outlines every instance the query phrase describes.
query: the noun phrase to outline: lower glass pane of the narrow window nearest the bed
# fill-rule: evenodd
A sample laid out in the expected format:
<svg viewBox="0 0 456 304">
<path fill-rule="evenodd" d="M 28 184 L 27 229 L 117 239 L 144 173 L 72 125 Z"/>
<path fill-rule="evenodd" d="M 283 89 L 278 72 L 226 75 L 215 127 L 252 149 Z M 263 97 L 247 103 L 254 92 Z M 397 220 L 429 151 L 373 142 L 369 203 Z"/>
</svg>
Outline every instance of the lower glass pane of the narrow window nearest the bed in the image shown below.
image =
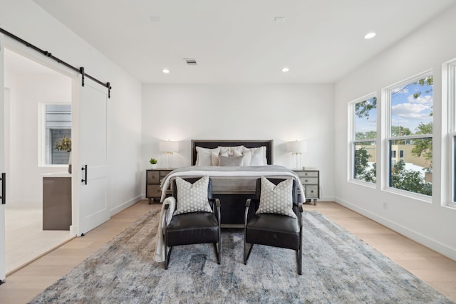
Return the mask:
<svg viewBox="0 0 456 304">
<path fill-rule="evenodd" d="M 354 179 L 375 183 L 377 163 L 375 142 L 357 142 L 355 144 Z"/>
</svg>

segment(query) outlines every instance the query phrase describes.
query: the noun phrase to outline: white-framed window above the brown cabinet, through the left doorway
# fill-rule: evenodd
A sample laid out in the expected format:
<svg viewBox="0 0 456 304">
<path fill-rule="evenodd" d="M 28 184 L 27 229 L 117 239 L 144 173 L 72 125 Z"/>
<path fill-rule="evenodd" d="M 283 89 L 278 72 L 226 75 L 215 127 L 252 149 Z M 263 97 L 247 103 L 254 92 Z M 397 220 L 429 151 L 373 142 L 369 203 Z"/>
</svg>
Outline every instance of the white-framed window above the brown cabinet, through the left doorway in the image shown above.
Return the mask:
<svg viewBox="0 0 456 304">
<path fill-rule="evenodd" d="M 41 164 L 68 164 L 70 153 L 56 150 L 56 141 L 71 138 L 71 105 L 41 105 Z"/>
</svg>

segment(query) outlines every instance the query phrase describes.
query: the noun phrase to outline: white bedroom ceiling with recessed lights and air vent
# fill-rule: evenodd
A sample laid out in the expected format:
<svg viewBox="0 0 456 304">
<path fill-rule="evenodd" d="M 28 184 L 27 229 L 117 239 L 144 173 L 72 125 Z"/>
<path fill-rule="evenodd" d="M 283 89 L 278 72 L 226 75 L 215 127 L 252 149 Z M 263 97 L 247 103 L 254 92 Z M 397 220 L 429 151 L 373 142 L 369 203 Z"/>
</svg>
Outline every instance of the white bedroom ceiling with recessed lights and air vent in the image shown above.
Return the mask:
<svg viewBox="0 0 456 304">
<path fill-rule="evenodd" d="M 142 83 L 334 83 L 456 0 L 34 0 Z M 276 17 L 284 18 L 274 22 Z M 375 38 L 363 36 L 375 31 Z M 194 58 L 197 65 L 187 65 Z M 80 63 L 83 65 L 83 63 Z M 281 68 L 288 67 L 288 73 Z M 170 73 L 162 73 L 167 68 Z"/>
</svg>

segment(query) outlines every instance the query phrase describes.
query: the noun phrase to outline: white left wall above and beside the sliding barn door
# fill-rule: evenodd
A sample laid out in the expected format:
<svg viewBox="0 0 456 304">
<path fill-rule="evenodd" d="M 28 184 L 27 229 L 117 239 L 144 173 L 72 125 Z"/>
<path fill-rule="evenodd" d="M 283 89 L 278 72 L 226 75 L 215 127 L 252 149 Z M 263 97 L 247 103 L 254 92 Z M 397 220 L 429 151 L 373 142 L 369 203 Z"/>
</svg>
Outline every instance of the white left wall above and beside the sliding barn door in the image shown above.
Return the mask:
<svg viewBox="0 0 456 304">
<path fill-rule="evenodd" d="M 83 41 L 76 33 L 53 19 L 33 1 L 2 0 L 1 28 L 50 51 L 53 56 L 113 86 L 108 101 L 108 204 L 111 214 L 140 199 L 141 164 L 141 84 L 118 65 Z M 115 35 L 115 33 L 113 33 Z M 6 38 L 7 45 L 16 45 Z M 24 48 L 19 46 L 19 48 Z M 33 53 L 24 49 L 25 52 Z M 34 53 L 40 61 L 62 68 Z"/>
</svg>

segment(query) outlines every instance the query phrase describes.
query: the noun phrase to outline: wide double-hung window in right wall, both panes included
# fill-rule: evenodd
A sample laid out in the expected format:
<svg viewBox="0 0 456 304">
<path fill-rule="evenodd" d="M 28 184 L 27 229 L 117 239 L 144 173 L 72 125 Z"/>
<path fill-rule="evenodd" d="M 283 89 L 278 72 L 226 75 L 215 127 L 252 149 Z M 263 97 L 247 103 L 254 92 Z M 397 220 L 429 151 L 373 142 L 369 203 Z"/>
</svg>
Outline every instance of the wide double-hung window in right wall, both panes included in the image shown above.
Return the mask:
<svg viewBox="0 0 456 304">
<path fill-rule="evenodd" d="M 430 73 L 423 74 L 385 91 L 389 187 L 427 196 L 432 196 L 432 82 Z"/>
</svg>

